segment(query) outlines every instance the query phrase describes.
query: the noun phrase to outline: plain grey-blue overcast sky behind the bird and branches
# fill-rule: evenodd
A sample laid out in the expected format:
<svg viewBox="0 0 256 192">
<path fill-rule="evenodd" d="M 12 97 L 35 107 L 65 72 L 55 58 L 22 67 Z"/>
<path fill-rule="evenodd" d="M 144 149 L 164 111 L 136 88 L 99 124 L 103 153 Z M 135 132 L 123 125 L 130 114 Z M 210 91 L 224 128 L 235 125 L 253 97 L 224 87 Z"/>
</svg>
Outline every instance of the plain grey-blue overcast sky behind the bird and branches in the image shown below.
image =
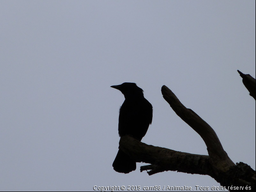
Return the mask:
<svg viewBox="0 0 256 192">
<path fill-rule="evenodd" d="M 112 169 L 118 110 L 111 85 L 135 82 L 153 105 L 142 142 L 208 155 L 161 95 L 168 86 L 255 170 L 255 0 L 0 2 L 0 191 L 93 186 L 219 186 L 210 176 Z M 126 188 L 127 189 L 127 188 Z"/>
</svg>

